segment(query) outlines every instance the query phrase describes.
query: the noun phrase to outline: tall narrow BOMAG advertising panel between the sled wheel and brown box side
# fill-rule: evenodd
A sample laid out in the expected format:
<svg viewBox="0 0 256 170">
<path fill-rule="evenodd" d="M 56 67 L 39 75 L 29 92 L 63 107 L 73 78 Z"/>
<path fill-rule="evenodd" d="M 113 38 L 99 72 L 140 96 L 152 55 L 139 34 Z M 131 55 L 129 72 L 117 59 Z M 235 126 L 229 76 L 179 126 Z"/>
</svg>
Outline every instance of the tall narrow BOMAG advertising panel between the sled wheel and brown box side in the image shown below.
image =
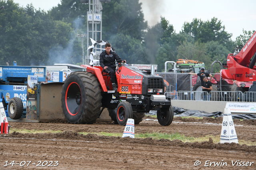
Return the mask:
<svg viewBox="0 0 256 170">
<path fill-rule="evenodd" d="M 28 75 L 26 119 L 37 120 L 38 76 Z"/>
</svg>

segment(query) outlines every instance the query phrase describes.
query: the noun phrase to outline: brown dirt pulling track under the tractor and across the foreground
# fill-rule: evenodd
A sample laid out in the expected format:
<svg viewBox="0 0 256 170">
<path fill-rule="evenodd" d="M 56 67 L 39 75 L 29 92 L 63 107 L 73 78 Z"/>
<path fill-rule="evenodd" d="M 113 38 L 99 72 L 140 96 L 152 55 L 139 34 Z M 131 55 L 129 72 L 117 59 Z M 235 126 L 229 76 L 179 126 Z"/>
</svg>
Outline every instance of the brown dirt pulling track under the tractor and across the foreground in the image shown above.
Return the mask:
<svg viewBox="0 0 256 170">
<path fill-rule="evenodd" d="M 254 120 L 234 120 L 238 141 L 256 142 L 255 123 Z M 139 125 L 135 125 L 135 133 L 178 132 L 188 137 L 220 136 L 221 124 L 222 118 L 175 117 L 171 125 L 163 127 L 152 117 L 144 117 Z M 92 125 L 74 125 L 66 121 L 10 122 L 10 125 L 15 129 L 60 130 L 63 133 L 14 132 L 0 135 L 1 169 L 256 169 L 256 146 L 216 144 L 212 139 L 202 143 L 183 143 L 179 140 L 78 133 L 124 132 L 124 126 L 110 122 Z"/>
</svg>

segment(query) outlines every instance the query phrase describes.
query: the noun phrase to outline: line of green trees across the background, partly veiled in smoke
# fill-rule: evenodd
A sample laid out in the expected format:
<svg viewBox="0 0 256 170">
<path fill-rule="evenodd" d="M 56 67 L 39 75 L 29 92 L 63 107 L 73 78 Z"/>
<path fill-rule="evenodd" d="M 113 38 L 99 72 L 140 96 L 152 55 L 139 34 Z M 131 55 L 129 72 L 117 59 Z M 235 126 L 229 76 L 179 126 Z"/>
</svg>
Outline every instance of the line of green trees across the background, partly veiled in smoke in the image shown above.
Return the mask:
<svg viewBox="0 0 256 170">
<path fill-rule="evenodd" d="M 0 64 L 53 65 L 82 64 L 81 38 L 86 33 L 88 4 L 80 0 L 61 0 L 49 11 L 35 9 L 32 4 L 20 7 L 13 0 L 0 0 Z M 157 64 L 164 69 L 165 61 L 192 59 L 226 63 L 234 48 L 243 45 L 254 30 L 232 41 L 232 33 L 218 18 L 202 21 L 194 18 L 184 22 L 176 33 L 173 25 L 162 17 L 149 27 L 144 20 L 139 0 L 112 0 L 102 3 L 102 39 L 108 40 L 122 59 L 130 64 Z M 88 45 L 84 43 L 84 49 Z M 214 72 L 219 66 L 214 66 Z"/>
</svg>

